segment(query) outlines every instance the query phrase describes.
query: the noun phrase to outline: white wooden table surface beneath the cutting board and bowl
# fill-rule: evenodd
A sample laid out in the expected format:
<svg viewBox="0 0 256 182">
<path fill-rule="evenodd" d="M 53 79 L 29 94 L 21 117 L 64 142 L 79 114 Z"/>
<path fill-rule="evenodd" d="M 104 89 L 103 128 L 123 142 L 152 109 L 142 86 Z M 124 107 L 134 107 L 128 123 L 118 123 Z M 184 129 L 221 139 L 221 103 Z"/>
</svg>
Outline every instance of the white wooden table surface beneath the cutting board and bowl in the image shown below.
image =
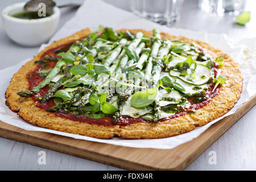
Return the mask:
<svg viewBox="0 0 256 182">
<path fill-rule="evenodd" d="M 130 2 L 126 0 L 105 0 L 125 10 L 130 10 Z M 249 0 L 253 2 L 253 0 Z M 2 10 L 18 0 L 1 1 Z M 64 4 L 65 1 L 56 1 Z M 74 2 L 82 3 L 82 0 Z M 255 1 L 254 1 L 255 5 Z M 250 6 L 253 8 L 253 6 Z M 249 8 L 250 8 L 249 7 Z M 254 6 L 255 7 L 255 6 Z M 60 27 L 75 14 L 75 10 L 61 9 Z M 246 27 L 232 24 L 232 16 L 216 17 L 201 13 L 197 1 L 186 0 L 180 22 L 174 27 L 187 28 L 229 36 L 256 36 L 256 11 L 251 11 L 251 21 Z M 192 23 L 193 22 L 193 23 Z M 13 43 L 0 23 L 0 69 L 15 65 L 19 61 L 36 55 L 39 47 L 26 48 Z M 256 61 L 256 60 L 255 60 Z M 216 140 L 186 170 L 256 170 L 256 107 L 254 106 L 224 135 Z M 46 152 L 46 164 L 39 164 L 39 151 Z M 216 154 L 216 164 L 210 164 L 210 154 Z M 0 170 L 122 170 L 106 164 L 92 162 L 30 144 L 0 138 Z"/>
</svg>

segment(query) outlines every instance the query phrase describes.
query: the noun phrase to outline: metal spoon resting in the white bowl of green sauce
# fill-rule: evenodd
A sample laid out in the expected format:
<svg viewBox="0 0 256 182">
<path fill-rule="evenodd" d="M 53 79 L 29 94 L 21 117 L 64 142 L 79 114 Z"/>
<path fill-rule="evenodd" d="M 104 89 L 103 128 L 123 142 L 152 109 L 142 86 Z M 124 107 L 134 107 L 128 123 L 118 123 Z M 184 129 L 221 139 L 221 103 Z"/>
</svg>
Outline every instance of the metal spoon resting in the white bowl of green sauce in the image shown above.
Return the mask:
<svg viewBox="0 0 256 182">
<path fill-rule="evenodd" d="M 26 3 L 26 5 L 24 5 L 24 10 L 25 11 L 30 11 L 30 12 L 36 12 L 40 9 L 40 7 L 38 7 L 39 3 L 44 3 L 46 5 L 46 11 L 47 12 L 52 12 L 53 10 L 53 7 L 56 6 L 56 3 L 52 0 L 31 0 L 31 1 L 28 1 Z M 57 7 L 76 7 L 78 8 L 79 4 L 76 4 L 76 3 L 69 3 L 67 5 L 60 5 L 60 6 L 57 6 Z"/>
</svg>

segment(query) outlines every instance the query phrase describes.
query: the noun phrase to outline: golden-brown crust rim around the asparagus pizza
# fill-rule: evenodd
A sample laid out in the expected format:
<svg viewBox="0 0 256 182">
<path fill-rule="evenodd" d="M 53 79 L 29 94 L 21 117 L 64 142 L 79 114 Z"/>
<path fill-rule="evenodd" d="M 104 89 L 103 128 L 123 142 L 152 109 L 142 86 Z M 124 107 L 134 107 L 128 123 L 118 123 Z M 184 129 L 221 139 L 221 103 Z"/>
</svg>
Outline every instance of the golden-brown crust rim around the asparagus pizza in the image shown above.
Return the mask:
<svg viewBox="0 0 256 182">
<path fill-rule="evenodd" d="M 152 36 L 151 31 L 129 31 L 133 33 L 141 31 L 146 36 Z M 218 95 L 214 97 L 209 104 L 197 109 L 193 114 L 186 114 L 181 117 L 163 122 L 134 123 L 128 126 L 103 126 L 57 117 L 57 115 L 54 113 L 49 113 L 44 109 L 36 107 L 36 104 L 31 97 L 25 98 L 16 94 L 21 90 L 28 89 L 27 74 L 34 71 L 36 67 L 34 61 L 39 60 L 44 52 L 62 44 L 74 42 L 75 40 L 79 40 L 89 34 L 89 28 L 85 28 L 84 30 L 68 36 L 67 38 L 57 40 L 50 46 L 44 48 L 44 50 L 39 52 L 38 55 L 34 56 L 31 61 L 28 61 L 25 65 L 23 65 L 23 67 L 20 68 L 17 73 L 15 73 L 9 87 L 6 90 L 6 105 L 8 105 L 11 110 L 18 112 L 18 115 L 25 121 L 47 129 L 86 135 L 94 138 L 110 139 L 114 136 L 118 136 L 127 139 L 143 139 L 166 138 L 191 131 L 196 126 L 205 125 L 208 122 L 213 121 L 214 119 L 227 113 L 240 98 L 243 80 L 241 71 L 238 64 L 235 63 L 229 55 L 222 52 L 220 49 L 210 46 L 208 43 L 201 42 L 200 40 L 193 40 L 183 36 L 176 37 L 162 32 L 162 38 L 165 37 L 167 39 L 177 39 L 187 43 L 195 42 L 199 46 L 207 49 L 210 55 L 213 57 L 218 56 L 224 59 L 224 65 L 221 68 L 221 75 L 226 77 L 228 81 L 226 81 L 226 83 L 220 87 Z"/>
</svg>

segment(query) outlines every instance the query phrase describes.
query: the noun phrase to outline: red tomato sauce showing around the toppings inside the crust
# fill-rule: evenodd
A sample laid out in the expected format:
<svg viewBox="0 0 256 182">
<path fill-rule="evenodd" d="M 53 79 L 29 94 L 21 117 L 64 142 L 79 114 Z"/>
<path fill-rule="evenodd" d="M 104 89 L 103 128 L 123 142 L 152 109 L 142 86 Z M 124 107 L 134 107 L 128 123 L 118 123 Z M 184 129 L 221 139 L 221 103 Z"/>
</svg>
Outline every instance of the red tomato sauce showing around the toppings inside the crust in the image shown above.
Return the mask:
<svg viewBox="0 0 256 182">
<path fill-rule="evenodd" d="M 56 50 L 62 49 L 63 51 L 67 51 L 69 47 L 70 47 L 70 44 L 64 44 L 59 47 L 49 49 L 48 51 L 46 51 L 43 54 L 41 59 L 46 55 L 58 57 L 57 54 L 54 53 Z M 56 64 L 56 61 L 49 61 L 49 64 L 46 68 L 42 68 L 41 65 L 38 64 L 34 71 L 28 73 L 27 77 L 28 77 L 29 89 L 32 90 L 32 88 L 34 88 L 35 86 L 37 86 L 40 82 L 42 82 L 44 80 L 44 78 L 40 77 L 40 75 L 38 73 L 39 71 L 41 71 L 43 69 L 53 68 L 53 67 L 55 67 L 55 64 Z M 217 69 L 216 64 L 214 63 L 214 78 L 216 78 L 217 74 L 218 74 L 218 69 Z M 185 114 L 188 114 L 189 112 L 191 112 L 191 110 L 197 110 L 197 109 L 200 109 L 201 107 L 209 104 L 209 102 L 212 100 L 212 98 L 217 96 L 217 94 L 218 94 L 219 86 L 212 93 L 214 85 L 215 84 L 212 84 L 210 86 L 210 88 L 208 90 L 206 90 L 207 100 L 204 100 L 203 102 L 200 102 L 199 104 L 193 104 L 191 102 L 191 106 L 189 106 L 189 108 L 183 109 L 179 113 L 176 113 L 176 114 L 172 115 L 171 117 L 160 119 L 160 122 L 167 121 L 168 119 L 181 117 L 182 115 L 185 115 Z M 60 88 L 60 89 L 62 89 L 62 88 Z M 44 94 L 46 94 L 48 92 L 48 90 L 49 90 L 49 87 L 47 85 L 42 90 L 40 90 L 40 92 L 38 92 L 38 93 L 34 94 L 34 96 L 32 96 L 32 99 L 36 102 L 37 107 L 47 110 L 50 107 L 55 106 L 55 103 L 53 102 L 53 98 L 50 98 L 46 103 L 43 103 L 43 104 L 40 104 L 40 102 L 38 100 L 36 100 L 36 98 L 38 98 L 38 97 L 43 97 Z M 121 117 L 116 124 L 113 124 L 114 118 L 111 116 L 106 116 L 106 117 L 100 118 L 100 119 L 93 119 L 93 118 L 87 118 L 84 116 L 74 115 L 71 113 L 65 114 L 65 113 L 56 112 L 55 115 L 57 115 L 58 117 L 61 117 L 61 118 L 70 119 L 72 121 L 86 122 L 86 123 L 90 123 L 90 124 L 97 124 L 97 125 L 104 125 L 104 126 L 113 126 L 113 125 L 126 126 L 126 125 L 131 125 L 131 124 L 137 123 L 137 122 L 147 123 L 147 121 L 143 118 L 131 118 L 128 116 Z"/>
</svg>

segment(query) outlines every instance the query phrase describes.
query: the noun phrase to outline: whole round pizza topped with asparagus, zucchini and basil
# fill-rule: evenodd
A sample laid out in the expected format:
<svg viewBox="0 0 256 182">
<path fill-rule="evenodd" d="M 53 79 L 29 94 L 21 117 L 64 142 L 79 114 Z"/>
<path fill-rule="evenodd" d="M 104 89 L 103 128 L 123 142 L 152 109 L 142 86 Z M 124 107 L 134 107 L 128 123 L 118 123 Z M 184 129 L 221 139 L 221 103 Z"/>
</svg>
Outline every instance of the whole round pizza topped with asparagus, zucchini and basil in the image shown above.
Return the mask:
<svg viewBox="0 0 256 182">
<path fill-rule="evenodd" d="M 154 29 L 85 28 L 13 76 L 6 105 L 46 129 L 110 139 L 166 138 L 227 113 L 242 92 L 234 60 Z"/>
</svg>

